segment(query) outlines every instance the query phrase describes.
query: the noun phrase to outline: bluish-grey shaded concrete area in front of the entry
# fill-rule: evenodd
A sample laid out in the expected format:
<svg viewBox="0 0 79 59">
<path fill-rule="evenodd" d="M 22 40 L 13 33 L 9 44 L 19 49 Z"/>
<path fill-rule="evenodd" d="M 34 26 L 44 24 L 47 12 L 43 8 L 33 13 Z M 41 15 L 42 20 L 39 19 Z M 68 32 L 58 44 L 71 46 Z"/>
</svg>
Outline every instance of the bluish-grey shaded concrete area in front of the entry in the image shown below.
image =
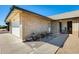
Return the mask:
<svg viewBox="0 0 79 59">
<path fill-rule="evenodd" d="M 57 34 L 57 35 L 55 34 L 52 36 L 47 36 L 41 39 L 41 41 L 58 46 L 58 47 L 63 47 L 68 37 L 69 37 L 68 34 Z"/>
</svg>

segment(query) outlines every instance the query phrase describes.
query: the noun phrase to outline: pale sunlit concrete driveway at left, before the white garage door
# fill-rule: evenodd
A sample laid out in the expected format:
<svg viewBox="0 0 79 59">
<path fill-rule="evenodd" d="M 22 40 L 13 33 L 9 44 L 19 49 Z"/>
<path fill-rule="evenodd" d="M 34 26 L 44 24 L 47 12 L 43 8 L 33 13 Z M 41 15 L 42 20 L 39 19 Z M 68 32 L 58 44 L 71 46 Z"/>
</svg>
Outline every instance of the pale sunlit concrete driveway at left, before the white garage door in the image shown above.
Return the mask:
<svg viewBox="0 0 79 59">
<path fill-rule="evenodd" d="M 30 53 L 32 48 L 9 33 L 0 34 L 0 53 Z"/>
</svg>

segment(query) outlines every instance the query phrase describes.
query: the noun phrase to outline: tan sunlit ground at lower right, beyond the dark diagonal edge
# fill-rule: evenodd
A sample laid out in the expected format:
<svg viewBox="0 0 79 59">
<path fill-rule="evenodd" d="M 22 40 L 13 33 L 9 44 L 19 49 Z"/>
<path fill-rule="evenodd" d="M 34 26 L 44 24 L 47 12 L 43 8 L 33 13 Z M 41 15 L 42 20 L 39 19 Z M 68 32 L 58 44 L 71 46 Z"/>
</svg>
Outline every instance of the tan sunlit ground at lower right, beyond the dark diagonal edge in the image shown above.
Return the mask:
<svg viewBox="0 0 79 59">
<path fill-rule="evenodd" d="M 74 54 L 79 53 L 79 38 L 76 35 L 69 35 L 63 48 L 60 48 L 58 54 Z"/>
</svg>

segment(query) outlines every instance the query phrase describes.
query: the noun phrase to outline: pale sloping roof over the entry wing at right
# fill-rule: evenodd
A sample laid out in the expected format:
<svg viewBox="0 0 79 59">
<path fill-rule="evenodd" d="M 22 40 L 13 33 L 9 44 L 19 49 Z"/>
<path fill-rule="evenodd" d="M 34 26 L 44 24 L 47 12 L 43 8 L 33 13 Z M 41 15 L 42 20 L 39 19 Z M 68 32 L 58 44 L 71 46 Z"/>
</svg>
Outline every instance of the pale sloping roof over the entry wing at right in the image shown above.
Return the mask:
<svg viewBox="0 0 79 59">
<path fill-rule="evenodd" d="M 66 13 L 62 13 L 62 14 L 57 14 L 54 16 L 48 16 L 48 17 L 51 19 L 54 19 L 54 20 L 79 17 L 79 10 L 66 12 Z"/>
</svg>

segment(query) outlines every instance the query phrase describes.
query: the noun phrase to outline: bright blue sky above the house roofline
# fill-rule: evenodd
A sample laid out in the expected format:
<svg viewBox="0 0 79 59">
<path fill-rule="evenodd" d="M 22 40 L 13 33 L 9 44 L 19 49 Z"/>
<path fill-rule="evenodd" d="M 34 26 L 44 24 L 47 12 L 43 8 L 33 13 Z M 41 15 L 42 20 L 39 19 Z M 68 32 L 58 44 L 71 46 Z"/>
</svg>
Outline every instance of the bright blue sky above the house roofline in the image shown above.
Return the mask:
<svg viewBox="0 0 79 59">
<path fill-rule="evenodd" d="M 26 10 L 51 16 L 73 10 L 79 10 L 79 5 L 18 5 Z M 9 13 L 11 5 L 0 5 L 0 25 L 5 25 L 5 17 Z"/>
</svg>

